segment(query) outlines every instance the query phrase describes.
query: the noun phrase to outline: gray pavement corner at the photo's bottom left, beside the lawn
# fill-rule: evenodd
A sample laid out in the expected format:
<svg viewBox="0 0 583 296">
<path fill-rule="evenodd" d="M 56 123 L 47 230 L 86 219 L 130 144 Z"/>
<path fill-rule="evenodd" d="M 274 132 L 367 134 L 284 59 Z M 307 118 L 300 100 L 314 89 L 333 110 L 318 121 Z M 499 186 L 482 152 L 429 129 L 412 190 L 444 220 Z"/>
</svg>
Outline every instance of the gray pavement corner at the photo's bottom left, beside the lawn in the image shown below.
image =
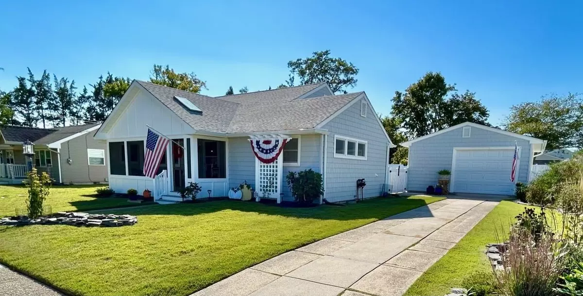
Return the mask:
<svg viewBox="0 0 583 296">
<path fill-rule="evenodd" d="M 0 265 L 0 296 L 60 296 L 52 288 Z"/>
</svg>

